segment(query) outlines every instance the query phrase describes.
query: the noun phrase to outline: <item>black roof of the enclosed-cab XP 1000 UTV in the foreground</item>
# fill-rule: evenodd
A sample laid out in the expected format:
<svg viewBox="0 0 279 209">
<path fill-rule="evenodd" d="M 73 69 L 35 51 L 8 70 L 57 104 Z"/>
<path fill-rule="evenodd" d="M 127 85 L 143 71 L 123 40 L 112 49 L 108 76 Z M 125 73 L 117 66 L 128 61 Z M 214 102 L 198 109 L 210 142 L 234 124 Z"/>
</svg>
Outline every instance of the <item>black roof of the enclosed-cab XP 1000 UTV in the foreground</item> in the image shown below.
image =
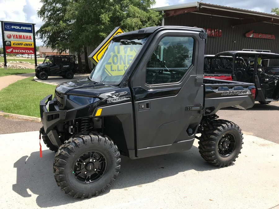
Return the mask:
<svg viewBox="0 0 279 209">
<path fill-rule="evenodd" d="M 204 29 L 202 28 L 193 28 L 193 27 L 185 27 L 185 26 L 155 26 L 155 27 L 148 27 L 148 28 L 142 28 L 139 30 L 134 30 L 134 31 L 130 31 L 127 33 L 121 33 L 119 35 L 116 35 L 113 37 L 114 38 L 119 38 L 122 36 L 127 36 L 127 35 L 135 35 L 135 34 L 149 34 L 149 33 L 154 33 L 157 30 L 167 30 L 167 29 L 171 29 L 171 30 L 188 30 L 188 31 L 195 31 L 195 32 L 202 32 L 205 33 Z"/>
</svg>

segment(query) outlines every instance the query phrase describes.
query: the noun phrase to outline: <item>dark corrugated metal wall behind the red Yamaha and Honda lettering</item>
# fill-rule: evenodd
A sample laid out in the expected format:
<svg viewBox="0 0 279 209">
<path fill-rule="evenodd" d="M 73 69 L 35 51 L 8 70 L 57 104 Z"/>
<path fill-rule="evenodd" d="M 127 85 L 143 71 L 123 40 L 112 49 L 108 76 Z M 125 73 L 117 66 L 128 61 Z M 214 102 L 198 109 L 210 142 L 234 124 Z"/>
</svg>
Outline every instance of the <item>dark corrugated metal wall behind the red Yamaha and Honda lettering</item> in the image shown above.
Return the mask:
<svg viewBox="0 0 279 209">
<path fill-rule="evenodd" d="M 236 19 L 186 13 L 165 18 L 165 25 L 221 29 L 222 37 L 208 37 L 205 54 L 217 54 L 222 51 L 242 49 L 270 50 L 279 54 L 279 25 L 253 23 L 231 27 L 233 20 Z M 245 34 L 252 30 L 254 30 L 254 33 L 275 34 L 275 40 L 247 38 Z"/>
</svg>

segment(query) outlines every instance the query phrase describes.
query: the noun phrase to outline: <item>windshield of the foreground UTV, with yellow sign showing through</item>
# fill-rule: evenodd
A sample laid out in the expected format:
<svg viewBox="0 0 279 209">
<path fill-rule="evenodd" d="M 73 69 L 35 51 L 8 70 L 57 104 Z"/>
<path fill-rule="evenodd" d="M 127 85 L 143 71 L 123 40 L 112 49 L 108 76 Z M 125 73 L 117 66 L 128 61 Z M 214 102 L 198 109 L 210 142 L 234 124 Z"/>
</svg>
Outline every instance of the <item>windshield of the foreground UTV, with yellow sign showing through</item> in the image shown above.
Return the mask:
<svg viewBox="0 0 279 209">
<path fill-rule="evenodd" d="M 111 42 L 91 72 L 91 81 L 118 85 L 146 40 L 147 37 L 122 37 Z"/>
</svg>

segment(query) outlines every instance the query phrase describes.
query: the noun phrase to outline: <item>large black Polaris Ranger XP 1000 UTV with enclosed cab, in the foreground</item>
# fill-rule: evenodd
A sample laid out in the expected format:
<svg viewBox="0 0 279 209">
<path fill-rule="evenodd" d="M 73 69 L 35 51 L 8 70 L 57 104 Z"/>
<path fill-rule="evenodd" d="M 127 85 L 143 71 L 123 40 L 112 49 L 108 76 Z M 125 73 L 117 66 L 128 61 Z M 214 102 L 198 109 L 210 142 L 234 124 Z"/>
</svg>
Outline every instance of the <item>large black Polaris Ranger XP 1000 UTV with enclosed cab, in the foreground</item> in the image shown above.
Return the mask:
<svg viewBox="0 0 279 209">
<path fill-rule="evenodd" d="M 216 112 L 252 107 L 255 86 L 204 79 L 206 38 L 201 28 L 180 26 L 117 35 L 88 78 L 58 85 L 53 99 L 40 102 L 40 133 L 57 152 L 55 180 L 66 194 L 84 198 L 108 189 L 120 154 L 137 159 L 189 150 L 195 137 L 207 162 L 235 161 L 243 134 L 216 120 Z"/>
</svg>

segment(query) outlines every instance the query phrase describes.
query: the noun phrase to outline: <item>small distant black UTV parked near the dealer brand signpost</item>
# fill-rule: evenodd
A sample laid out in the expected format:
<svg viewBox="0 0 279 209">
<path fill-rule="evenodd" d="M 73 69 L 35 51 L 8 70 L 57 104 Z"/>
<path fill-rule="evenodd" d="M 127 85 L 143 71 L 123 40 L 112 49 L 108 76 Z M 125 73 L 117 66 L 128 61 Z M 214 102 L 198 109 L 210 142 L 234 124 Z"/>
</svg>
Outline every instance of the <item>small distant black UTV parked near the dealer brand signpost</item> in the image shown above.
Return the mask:
<svg viewBox="0 0 279 209">
<path fill-rule="evenodd" d="M 76 56 L 74 55 L 49 55 L 35 69 L 35 75 L 41 80 L 47 80 L 48 76 L 72 79 L 76 68 Z"/>
</svg>

